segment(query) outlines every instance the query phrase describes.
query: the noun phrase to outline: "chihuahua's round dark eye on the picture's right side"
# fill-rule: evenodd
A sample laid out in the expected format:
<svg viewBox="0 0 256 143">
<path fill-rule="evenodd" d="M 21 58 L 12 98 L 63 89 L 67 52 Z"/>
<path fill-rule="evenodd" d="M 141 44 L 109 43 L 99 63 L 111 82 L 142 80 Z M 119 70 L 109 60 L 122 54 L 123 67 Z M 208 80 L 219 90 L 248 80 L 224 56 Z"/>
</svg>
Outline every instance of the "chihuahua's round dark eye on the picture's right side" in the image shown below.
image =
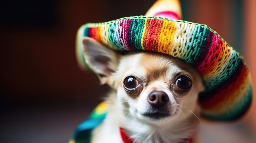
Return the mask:
<svg viewBox="0 0 256 143">
<path fill-rule="evenodd" d="M 180 75 L 176 81 L 175 81 L 175 85 L 178 87 L 178 88 L 181 88 L 181 89 L 189 89 L 191 88 L 192 86 L 192 82 L 191 82 L 191 79 L 186 76 L 186 75 Z"/>
</svg>

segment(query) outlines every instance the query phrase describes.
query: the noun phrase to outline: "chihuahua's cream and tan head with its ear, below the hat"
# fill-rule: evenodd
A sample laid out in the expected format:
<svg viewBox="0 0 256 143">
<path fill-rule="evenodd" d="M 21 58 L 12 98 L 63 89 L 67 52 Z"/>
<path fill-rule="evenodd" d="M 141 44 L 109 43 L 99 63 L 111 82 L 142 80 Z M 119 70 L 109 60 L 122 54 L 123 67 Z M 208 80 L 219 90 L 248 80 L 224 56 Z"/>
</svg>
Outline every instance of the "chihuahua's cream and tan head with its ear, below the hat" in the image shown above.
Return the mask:
<svg viewBox="0 0 256 143">
<path fill-rule="evenodd" d="M 117 90 L 117 100 L 129 116 L 158 123 L 188 117 L 198 107 L 202 78 L 181 59 L 146 51 L 120 54 L 88 37 L 83 45 L 88 66 L 101 84 Z"/>
</svg>

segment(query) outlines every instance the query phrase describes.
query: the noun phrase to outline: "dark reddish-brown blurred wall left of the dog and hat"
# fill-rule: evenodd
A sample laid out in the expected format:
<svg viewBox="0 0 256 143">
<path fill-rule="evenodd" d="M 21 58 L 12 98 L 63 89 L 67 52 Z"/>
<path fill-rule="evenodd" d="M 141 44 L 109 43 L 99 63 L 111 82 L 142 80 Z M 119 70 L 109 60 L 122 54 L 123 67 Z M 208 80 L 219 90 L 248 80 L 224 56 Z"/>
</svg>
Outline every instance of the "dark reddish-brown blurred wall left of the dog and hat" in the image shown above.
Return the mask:
<svg viewBox="0 0 256 143">
<path fill-rule="evenodd" d="M 102 88 L 97 86 L 97 79 L 76 64 L 76 31 L 87 22 L 142 15 L 153 0 L 143 3 L 143 0 L 130 0 L 128 4 L 119 0 L 3 1 L 0 6 L 1 105 L 80 101 L 84 104 L 88 98 L 99 98 L 103 91 L 97 90 Z M 145 7 L 141 8 L 142 5 Z"/>
</svg>

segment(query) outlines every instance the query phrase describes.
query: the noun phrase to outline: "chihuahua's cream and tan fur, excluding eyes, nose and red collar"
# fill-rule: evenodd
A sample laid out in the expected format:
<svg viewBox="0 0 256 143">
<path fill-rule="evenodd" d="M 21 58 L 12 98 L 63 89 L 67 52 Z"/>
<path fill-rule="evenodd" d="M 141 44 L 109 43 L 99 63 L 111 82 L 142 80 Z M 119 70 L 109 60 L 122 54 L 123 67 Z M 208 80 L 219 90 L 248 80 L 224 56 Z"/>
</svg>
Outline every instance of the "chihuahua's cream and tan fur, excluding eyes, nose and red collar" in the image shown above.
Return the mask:
<svg viewBox="0 0 256 143">
<path fill-rule="evenodd" d="M 99 68 L 102 64 L 97 65 L 97 60 L 94 61 L 93 57 L 90 57 L 88 45 L 92 44 L 99 46 L 99 53 L 106 53 L 105 49 L 110 52 L 111 56 L 108 58 L 111 59 L 111 64 L 105 66 L 114 71 L 104 77 L 98 76 L 101 83 L 110 85 L 113 91 L 107 99 L 106 119 L 94 129 L 92 143 L 123 143 L 119 133 L 120 127 L 136 143 L 181 143 L 183 139 L 190 137 L 193 137 L 193 143 L 199 143 L 197 128 L 200 124 L 200 108 L 197 99 L 199 92 L 204 88 L 199 73 L 192 66 L 160 53 L 133 52 L 120 55 L 90 38 L 85 38 L 85 59 L 92 70 L 106 69 Z M 159 70 L 159 78 L 149 81 L 151 70 L 162 67 L 167 68 Z M 94 72 L 97 73 L 97 70 Z M 102 74 L 104 71 L 98 73 Z M 175 76 L 180 73 L 188 75 L 192 80 L 191 90 L 181 96 L 170 88 Z M 123 81 L 127 76 L 136 76 L 144 81 L 141 83 L 143 90 L 138 97 L 130 97 L 124 90 Z M 170 116 L 152 119 L 143 115 L 151 108 L 147 97 L 153 90 L 164 91 L 168 95 L 170 101 L 166 108 Z"/>
</svg>

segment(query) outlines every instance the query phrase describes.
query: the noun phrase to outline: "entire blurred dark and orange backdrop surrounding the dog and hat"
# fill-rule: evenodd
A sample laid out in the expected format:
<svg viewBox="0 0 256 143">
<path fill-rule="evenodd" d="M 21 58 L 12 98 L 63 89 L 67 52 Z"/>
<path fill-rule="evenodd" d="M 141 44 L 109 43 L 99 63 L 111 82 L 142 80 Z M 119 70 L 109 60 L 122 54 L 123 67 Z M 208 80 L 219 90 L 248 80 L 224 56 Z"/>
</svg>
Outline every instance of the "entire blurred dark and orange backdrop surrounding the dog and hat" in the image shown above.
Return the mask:
<svg viewBox="0 0 256 143">
<path fill-rule="evenodd" d="M 67 143 L 107 86 L 78 68 L 87 22 L 144 15 L 155 0 L 5 0 L 0 4 L 0 142 Z M 181 0 L 183 20 L 207 24 L 247 62 L 256 83 L 256 1 Z M 254 89 L 255 84 L 254 84 Z M 255 98 L 254 98 L 255 101 Z M 255 143 L 256 110 L 236 123 L 203 122 L 203 143 Z"/>
</svg>

